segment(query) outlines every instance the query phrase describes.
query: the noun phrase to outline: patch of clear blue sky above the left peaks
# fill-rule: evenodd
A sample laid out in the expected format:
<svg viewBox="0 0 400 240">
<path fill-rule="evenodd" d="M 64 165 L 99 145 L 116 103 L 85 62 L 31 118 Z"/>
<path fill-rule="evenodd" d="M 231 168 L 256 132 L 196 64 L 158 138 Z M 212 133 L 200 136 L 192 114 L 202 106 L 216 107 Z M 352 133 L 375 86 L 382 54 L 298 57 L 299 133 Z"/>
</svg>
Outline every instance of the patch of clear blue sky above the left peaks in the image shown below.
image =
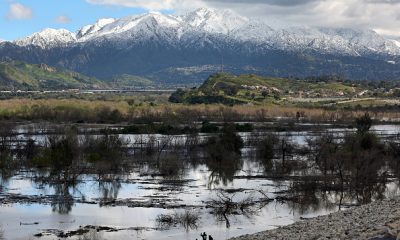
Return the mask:
<svg viewBox="0 0 400 240">
<path fill-rule="evenodd" d="M 14 40 L 25 37 L 43 28 L 66 28 L 76 31 L 93 24 L 99 18 L 119 18 L 147 12 L 143 8 L 116 5 L 94 5 L 83 0 L 0 0 L 0 39 Z M 31 9 L 28 16 L 10 16 L 10 6 L 20 4 Z M 60 18 L 63 16 L 63 18 Z M 56 19 L 60 18 L 61 22 Z M 69 21 L 67 21 L 69 19 Z"/>
</svg>

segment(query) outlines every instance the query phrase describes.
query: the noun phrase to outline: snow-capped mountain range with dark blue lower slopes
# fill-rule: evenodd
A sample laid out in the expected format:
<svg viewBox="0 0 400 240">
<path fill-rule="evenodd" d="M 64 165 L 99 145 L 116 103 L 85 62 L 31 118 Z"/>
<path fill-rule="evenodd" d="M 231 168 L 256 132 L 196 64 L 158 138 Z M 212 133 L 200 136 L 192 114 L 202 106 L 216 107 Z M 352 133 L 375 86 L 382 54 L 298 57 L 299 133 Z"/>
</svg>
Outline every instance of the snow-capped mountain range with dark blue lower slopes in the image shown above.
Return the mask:
<svg viewBox="0 0 400 240">
<path fill-rule="evenodd" d="M 100 19 L 77 32 L 44 29 L 0 42 L 0 56 L 97 77 L 198 84 L 217 71 L 268 76 L 399 79 L 400 43 L 373 30 L 277 28 L 230 10 Z"/>
</svg>

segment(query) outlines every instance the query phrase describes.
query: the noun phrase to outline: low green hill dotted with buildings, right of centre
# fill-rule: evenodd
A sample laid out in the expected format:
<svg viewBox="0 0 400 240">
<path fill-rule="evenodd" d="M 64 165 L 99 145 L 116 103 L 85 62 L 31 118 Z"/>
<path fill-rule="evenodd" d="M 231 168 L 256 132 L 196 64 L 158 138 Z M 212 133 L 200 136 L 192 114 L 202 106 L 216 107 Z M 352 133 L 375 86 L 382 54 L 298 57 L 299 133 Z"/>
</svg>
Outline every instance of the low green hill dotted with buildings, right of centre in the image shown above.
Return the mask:
<svg viewBox="0 0 400 240">
<path fill-rule="evenodd" d="M 190 104 L 270 103 L 283 98 L 352 97 L 363 90 L 360 85 L 338 80 L 306 81 L 218 73 L 210 76 L 199 88 L 176 91 L 170 101 Z"/>
</svg>

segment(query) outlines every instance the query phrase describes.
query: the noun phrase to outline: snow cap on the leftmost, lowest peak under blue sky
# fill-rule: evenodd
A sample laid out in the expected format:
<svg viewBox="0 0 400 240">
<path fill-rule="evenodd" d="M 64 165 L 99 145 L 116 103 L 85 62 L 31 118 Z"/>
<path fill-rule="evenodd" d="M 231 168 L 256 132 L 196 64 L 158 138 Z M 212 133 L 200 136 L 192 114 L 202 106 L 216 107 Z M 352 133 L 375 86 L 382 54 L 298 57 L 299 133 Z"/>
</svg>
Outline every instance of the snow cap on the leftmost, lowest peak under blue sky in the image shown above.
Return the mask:
<svg viewBox="0 0 400 240">
<path fill-rule="evenodd" d="M 19 46 L 35 45 L 41 48 L 50 48 L 55 46 L 66 46 L 75 41 L 75 34 L 66 29 L 46 28 L 26 38 L 16 40 L 14 43 Z"/>
</svg>

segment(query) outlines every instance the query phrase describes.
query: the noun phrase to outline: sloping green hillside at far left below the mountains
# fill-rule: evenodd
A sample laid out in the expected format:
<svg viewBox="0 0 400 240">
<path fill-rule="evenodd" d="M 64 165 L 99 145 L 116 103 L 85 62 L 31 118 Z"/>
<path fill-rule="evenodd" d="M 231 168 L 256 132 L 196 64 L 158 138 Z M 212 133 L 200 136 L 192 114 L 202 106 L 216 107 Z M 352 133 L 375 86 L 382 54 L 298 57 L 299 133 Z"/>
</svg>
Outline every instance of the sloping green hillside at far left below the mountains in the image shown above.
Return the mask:
<svg viewBox="0 0 400 240">
<path fill-rule="evenodd" d="M 104 88 L 104 82 L 82 74 L 20 61 L 0 62 L 1 90 L 61 90 Z"/>
</svg>

